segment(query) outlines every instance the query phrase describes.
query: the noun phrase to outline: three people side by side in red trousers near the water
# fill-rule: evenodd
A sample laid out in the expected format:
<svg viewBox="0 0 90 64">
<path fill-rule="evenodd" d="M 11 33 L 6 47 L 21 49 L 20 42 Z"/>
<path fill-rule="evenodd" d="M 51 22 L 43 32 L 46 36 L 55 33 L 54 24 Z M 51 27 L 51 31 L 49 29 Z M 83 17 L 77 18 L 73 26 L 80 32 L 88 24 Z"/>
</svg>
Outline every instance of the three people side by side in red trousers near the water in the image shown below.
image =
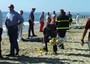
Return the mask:
<svg viewBox="0 0 90 64">
<path fill-rule="evenodd" d="M 55 11 L 53 11 L 52 16 L 50 15 L 50 12 L 48 12 L 47 16 L 46 16 L 46 20 L 45 20 L 44 12 L 41 13 L 41 16 L 40 16 L 40 29 L 39 29 L 40 32 L 43 32 L 44 27 L 49 23 L 52 23 L 52 24 L 56 23 L 56 12 Z"/>
</svg>

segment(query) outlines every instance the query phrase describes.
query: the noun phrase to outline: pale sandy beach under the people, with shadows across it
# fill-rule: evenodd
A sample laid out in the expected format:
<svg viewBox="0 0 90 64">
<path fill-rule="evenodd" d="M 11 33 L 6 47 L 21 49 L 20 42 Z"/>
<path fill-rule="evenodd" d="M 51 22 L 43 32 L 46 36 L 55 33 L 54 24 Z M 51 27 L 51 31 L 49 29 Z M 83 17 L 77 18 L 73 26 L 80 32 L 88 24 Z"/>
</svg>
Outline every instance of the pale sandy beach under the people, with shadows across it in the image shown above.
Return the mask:
<svg viewBox="0 0 90 64">
<path fill-rule="evenodd" d="M 85 24 L 85 20 L 83 24 Z M 81 37 L 84 29 L 70 29 L 67 31 L 67 41 L 64 42 L 65 49 L 58 47 L 57 55 L 38 50 L 43 48 L 44 43 L 42 42 L 19 42 L 19 56 L 7 57 L 9 54 L 10 43 L 8 36 L 3 36 L 2 39 L 2 55 L 0 58 L 0 64 L 89 64 L 90 63 L 90 51 L 87 43 L 81 46 Z M 39 27 L 35 29 L 37 37 L 43 37 L 43 33 L 39 32 Z M 88 34 L 87 34 L 88 35 Z M 85 42 L 87 42 L 87 35 Z M 23 38 L 27 38 L 28 31 L 23 31 Z M 52 46 L 48 43 L 49 52 L 52 51 Z"/>
</svg>

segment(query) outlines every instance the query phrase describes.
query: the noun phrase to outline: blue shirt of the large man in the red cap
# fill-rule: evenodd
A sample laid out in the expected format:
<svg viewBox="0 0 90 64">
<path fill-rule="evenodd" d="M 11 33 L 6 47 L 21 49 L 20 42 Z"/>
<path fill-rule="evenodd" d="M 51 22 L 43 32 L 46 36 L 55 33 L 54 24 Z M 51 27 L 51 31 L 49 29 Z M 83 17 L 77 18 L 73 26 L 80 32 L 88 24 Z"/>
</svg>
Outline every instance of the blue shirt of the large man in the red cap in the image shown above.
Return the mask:
<svg viewBox="0 0 90 64">
<path fill-rule="evenodd" d="M 14 10 L 12 12 L 7 13 L 6 15 L 7 27 L 14 26 L 18 23 L 22 23 L 23 21 L 24 20 L 20 16 L 20 14 Z"/>
</svg>

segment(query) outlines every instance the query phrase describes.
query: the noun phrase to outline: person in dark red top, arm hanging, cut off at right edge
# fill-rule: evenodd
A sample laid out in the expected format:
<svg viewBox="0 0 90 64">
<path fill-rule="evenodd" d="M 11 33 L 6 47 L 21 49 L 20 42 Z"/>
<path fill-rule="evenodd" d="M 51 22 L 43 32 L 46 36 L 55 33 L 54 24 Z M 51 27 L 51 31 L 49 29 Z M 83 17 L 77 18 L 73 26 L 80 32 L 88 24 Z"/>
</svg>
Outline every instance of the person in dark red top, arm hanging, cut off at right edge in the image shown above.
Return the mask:
<svg viewBox="0 0 90 64">
<path fill-rule="evenodd" d="M 83 46 L 84 45 L 84 38 L 86 36 L 86 33 L 88 32 L 88 29 L 89 29 L 89 34 L 88 34 L 88 46 L 89 46 L 89 49 L 90 49 L 90 18 L 87 20 L 87 23 L 85 25 L 85 30 L 83 32 L 83 36 L 82 36 L 82 39 L 81 39 L 81 45 Z"/>
</svg>

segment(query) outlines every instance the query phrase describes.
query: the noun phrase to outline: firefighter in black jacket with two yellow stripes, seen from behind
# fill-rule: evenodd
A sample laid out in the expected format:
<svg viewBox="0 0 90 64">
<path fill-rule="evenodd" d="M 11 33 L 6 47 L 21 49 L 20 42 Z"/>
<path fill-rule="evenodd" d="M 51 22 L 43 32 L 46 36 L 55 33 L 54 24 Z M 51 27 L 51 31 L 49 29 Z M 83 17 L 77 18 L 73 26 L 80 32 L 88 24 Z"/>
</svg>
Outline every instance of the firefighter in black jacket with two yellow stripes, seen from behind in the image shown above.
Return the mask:
<svg viewBox="0 0 90 64">
<path fill-rule="evenodd" d="M 57 33 L 58 36 L 62 39 L 64 38 L 65 40 L 65 35 L 67 29 L 69 29 L 69 17 L 66 15 L 65 11 L 63 9 L 60 10 L 60 15 L 57 17 Z M 64 49 L 64 45 L 60 45 L 61 49 Z"/>
</svg>

